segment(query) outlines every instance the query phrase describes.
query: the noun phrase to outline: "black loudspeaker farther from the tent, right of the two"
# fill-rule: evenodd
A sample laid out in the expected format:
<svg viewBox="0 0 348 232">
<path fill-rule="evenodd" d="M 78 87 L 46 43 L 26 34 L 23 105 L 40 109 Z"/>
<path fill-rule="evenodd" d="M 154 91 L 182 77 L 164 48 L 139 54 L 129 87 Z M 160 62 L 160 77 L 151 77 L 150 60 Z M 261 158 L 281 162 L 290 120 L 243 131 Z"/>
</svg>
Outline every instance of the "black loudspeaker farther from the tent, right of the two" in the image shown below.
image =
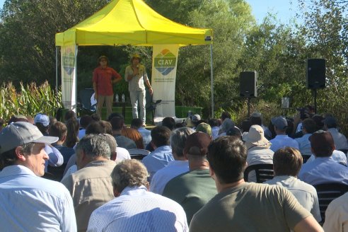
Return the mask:
<svg viewBox="0 0 348 232">
<path fill-rule="evenodd" d="M 325 88 L 325 59 L 307 59 L 307 88 Z"/>
</svg>

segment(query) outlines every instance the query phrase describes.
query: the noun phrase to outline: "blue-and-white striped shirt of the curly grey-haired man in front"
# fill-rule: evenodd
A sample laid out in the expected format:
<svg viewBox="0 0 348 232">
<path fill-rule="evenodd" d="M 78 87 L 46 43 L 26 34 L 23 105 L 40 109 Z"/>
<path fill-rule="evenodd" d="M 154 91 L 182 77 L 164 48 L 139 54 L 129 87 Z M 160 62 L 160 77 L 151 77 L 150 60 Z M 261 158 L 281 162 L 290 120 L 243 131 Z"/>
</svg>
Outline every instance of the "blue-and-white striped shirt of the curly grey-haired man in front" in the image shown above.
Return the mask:
<svg viewBox="0 0 348 232">
<path fill-rule="evenodd" d="M 184 209 L 172 199 L 147 192 L 146 187 L 126 187 L 120 197 L 93 211 L 87 231 L 171 232 L 188 231 Z"/>
</svg>

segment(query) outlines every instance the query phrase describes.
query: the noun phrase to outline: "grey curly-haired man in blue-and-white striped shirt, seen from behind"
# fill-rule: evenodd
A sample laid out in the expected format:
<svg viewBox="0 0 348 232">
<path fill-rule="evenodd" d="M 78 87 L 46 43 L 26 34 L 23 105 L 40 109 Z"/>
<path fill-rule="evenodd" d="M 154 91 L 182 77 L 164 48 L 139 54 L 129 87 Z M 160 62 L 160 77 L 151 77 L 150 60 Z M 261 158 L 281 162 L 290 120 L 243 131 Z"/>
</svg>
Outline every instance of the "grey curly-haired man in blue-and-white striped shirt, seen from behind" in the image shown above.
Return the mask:
<svg viewBox="0 0 348 232">
<path fill-rule="evenodd" d="M 87 231 L 188 231 L 180 204 L 148 192 L 145 166 L 125 160 L 112 170 L 115 198 L 93 211 Z"/>
</svg>

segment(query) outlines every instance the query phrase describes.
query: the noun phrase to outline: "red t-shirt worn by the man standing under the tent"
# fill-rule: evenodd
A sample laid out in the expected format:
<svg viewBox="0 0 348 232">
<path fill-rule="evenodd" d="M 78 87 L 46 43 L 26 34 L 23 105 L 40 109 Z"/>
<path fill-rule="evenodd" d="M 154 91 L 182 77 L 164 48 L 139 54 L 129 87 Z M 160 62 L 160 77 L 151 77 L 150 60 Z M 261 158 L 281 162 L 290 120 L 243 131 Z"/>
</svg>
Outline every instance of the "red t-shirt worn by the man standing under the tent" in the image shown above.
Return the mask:
<svg viewBox="0 0 348 232">
<path fill-rule="evenodd" d="M 115 71 L 115 69 L 108 66 L 105 69 L 102 69 L 101 66 L 94 69 L 93 82 L 97 86 L 98 95 L 108 96 L 114 94 L 112 91 L 112 76 L 114 76 L 116 79 L 122 78 L 121 75 Z"/>
</svg>

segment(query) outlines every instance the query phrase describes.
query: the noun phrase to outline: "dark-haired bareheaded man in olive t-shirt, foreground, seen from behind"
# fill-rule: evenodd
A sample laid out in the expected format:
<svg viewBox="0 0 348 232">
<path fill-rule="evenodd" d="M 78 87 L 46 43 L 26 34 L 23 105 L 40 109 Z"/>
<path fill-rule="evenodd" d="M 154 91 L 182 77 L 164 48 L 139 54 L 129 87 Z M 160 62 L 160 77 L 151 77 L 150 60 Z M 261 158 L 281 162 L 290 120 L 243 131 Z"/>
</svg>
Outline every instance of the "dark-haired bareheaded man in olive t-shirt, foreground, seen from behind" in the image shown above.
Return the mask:
<svg viewBox="0 0 348 232">
<path fill-rule="evenodd" d="M 209 173 L 218 194 L 190 223 L 200 231 L 323 231 L 284 187 L 244 182 L 247 149 L 237 137 L 219 137 L 208 147 Z"/>
</svg>

